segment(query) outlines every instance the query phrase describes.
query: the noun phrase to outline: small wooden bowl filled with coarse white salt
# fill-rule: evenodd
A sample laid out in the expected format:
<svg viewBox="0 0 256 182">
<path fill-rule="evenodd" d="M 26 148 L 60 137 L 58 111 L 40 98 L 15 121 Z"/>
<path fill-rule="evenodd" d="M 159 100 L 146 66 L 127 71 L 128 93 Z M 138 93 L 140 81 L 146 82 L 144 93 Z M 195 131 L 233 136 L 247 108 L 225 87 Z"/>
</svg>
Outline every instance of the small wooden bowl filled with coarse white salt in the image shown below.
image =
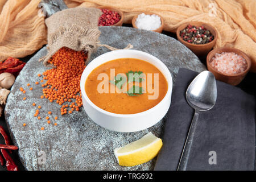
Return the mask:
<svg viewBox="0 0 256 182">
<path fill-rule="evenodd" d="M 131 22 L 134 28 L 162 33 L 164 20 L 155 13 L 142 13 L 133 17 Z"/>
</svg>

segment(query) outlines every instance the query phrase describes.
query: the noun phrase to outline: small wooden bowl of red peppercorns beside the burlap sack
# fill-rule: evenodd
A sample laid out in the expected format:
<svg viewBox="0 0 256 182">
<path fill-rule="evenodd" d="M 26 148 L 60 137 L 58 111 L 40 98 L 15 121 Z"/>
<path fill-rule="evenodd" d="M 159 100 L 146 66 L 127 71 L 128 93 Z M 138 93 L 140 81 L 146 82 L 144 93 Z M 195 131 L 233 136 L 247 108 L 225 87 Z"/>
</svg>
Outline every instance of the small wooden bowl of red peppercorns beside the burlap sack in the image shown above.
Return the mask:
<svg viewBox="0 0 256 182">
<path fill-rule="evenodd" d="M 118 10 L 114 7 L 111 6 L 98 6 L 98 9 L 101 9 L 101 11 L 103 11 L 99 22 L 98 22 L 98 26 L 122 26 L 123 24 L 123 12 L 121 10 Z M 109 12 L 105 12 L 104 10 L 110 10 L 110 11 L 114 11 L 114 13 L 118 13 L 119 16 L 117 14 L 109 14 Z M 109 16 L 108 17 L 103 17 L 102 16 Z M 118 18 L 119 17 L 119 18 Z M 116 20 L 118 20 L 118 22 L 116 22 Z M 109 21 L 109 22 L 108 22 Z M 114 22 L 113 22 L 114 21 Z"/>
</svg>

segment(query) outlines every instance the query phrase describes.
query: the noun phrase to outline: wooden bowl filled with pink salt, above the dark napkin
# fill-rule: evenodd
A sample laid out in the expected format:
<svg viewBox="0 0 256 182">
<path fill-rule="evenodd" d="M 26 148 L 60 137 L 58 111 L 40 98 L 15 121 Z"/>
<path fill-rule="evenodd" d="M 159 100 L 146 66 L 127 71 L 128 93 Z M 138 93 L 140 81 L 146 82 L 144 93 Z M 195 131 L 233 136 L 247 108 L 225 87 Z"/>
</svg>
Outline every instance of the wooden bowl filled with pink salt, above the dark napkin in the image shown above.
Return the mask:
<svg viewBox="0 0 256 182">
<path fill-rule="evenodd" d="M 236 48 L 222 47 L 210 51 L 207 55 L 207 68 L 217 80 L 230 85 L 238 85 L 251 67 L 246 53 Z"/>
</svg>

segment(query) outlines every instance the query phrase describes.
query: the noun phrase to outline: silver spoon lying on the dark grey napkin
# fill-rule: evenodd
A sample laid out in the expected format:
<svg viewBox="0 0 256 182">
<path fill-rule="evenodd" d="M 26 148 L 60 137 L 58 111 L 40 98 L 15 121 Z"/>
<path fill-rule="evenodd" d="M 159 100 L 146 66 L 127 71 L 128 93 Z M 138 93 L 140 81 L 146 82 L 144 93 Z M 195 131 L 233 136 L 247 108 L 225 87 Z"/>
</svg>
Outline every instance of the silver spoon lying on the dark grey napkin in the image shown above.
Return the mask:
<svg viewBox="0 0 256 182">
<path fill-rule="evenodd" d="M 209 71 L 203 71 L 195 77 L 188 86 L 186 92 L 186 100 L 188 104 L 195 109 L 187 139 L 181 154 L 178 171 L 185 171 L 187 168 L 188 157 L 195 135 L 197 119 L 200 111 L 212 109 L 217 100 L 217 86 L 214 75 Z"/>
</svg>

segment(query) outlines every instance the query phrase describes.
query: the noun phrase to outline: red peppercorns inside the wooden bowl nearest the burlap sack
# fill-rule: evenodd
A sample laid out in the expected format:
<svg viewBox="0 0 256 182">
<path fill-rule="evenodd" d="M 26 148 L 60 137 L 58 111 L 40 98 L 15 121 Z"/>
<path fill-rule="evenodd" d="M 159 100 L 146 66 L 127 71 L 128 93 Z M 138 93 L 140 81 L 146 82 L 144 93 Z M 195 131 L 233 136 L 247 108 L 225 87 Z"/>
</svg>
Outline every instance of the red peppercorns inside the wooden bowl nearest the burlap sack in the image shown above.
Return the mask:
<svg viewBox="0 0 256 182">
<path fill-rule="evenodd" d="M 98 26 L 112 26 L 121 19 L 121 16 L 116 11 L 107 9 L 101 9 L 101 11 L 103 14 L 98 19 Z"/>
</svg>

